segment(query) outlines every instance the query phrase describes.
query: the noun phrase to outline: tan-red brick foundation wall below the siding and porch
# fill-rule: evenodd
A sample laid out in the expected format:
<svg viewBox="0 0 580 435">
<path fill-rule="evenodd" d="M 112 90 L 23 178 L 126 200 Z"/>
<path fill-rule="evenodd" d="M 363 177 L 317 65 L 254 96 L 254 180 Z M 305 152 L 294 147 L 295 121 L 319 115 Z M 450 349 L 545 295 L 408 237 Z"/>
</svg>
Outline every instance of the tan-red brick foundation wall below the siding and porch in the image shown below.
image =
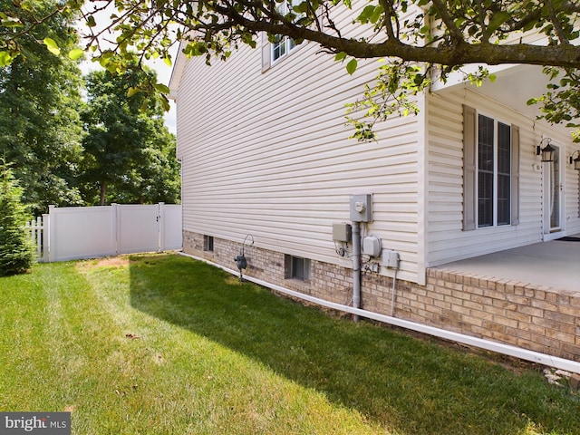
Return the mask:
<svg viewBox="0 0 580 435">
<path fill-rule="evenodd" d="M 184 231 L 183 250 L 236 269 L 241 244 L 214 239 L 214 250 L 204 250 L 203 235 Z M 313 295 L 338 304 L 352 304 L 353 270 L 311 260 L 311 278 L 285 279 L 282 253 L 244 248 L 244 275 Z M 362 275 L 361 307 L 391 315 L 392 278 Z M 397 280 L 395 317 L 456 333 L 580 361 L 580 292 L 550 290 L 544 286 L 460 275 L 431 268 L 427 284 Z"/>
</svg>

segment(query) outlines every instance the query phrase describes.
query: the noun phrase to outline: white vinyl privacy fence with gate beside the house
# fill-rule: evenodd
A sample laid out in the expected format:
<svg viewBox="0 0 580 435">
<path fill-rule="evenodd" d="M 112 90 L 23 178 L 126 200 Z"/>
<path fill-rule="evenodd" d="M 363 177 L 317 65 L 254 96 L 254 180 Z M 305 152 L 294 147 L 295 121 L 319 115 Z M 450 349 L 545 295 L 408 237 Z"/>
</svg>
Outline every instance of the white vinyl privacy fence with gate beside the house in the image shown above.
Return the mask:
<svg viewBox="0 0 580 435">
<path fill-rule="evenodd" d="M 181 248 L 181 206 L 50 206 L 26 229 L 42 262 L 161 252 Z"/>
</svg>

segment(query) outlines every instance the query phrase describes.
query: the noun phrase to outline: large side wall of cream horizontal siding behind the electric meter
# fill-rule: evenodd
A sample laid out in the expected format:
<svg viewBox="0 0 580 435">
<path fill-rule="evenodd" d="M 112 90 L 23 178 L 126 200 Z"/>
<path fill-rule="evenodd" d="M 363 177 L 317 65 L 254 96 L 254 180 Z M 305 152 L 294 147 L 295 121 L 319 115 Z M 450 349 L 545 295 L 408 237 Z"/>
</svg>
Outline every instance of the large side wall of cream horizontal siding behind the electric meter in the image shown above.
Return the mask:
<svg viewBox="0 0 580 435">
<path fill-rule="evenodd" d="M 266 73 L 260 50 L 247 47 L 226 63 L 185 65 L 177 92 L 183 227 L 240 243 L 252 234 L 256 247 L 344 264 L 333 223 L 350 220 L 350 195 L 372 193 L 364 234 L 398 250 L 398 276 L 416 281 L 418 120 L 378 125 L 377 142 L 349 140 L 344 104 L 378 64 L 361 62 L 349 76 L 317 51 L 304 43 Z"/>
</svg>

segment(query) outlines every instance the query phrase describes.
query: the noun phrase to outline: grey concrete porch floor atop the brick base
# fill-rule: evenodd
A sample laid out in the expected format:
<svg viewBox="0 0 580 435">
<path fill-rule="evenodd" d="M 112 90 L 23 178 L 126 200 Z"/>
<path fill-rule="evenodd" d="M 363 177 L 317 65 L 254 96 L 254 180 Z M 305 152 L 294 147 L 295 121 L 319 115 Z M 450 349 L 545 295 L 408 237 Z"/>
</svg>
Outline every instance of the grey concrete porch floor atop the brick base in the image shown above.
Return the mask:
<svg viewBox="0 0 580 435">
<path fill-rule="evenodd" d="M 580 241 L 541 242 L 435 268 L 580 292 Z"/>
</svg>

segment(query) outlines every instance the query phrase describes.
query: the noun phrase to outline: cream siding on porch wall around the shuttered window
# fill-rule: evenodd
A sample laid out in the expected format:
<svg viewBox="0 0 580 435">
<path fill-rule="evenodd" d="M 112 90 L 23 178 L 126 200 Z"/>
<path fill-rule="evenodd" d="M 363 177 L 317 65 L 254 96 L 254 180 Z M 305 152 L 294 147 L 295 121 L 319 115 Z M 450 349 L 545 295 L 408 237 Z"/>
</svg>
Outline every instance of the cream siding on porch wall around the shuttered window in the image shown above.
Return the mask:
<svg viewBox="0 0 580 435">
<path fill-rule="evenodd" d="M 513 123 L 520 128 L 520 223 L 517 226 L 462 230 L 463 217 L 463 131 L 462 104 L 468 104 L 498 121 Z M 534 170 L 539 163 L 536 145 L 541 134 L 562 143 L 569 136 L 530 120 L 504 105 L 489 100 L 477 92 L 460 87 L 456 91 L 431 96 L 429 111 L 429 194 L 428 194 L 428 264 L 440 265 L 449 261 L 479 256 L 542 240 L 542 171 Z M 540 129 L 540 126 L 542 129 Z M 569 154 L 567 154 L 569 155 Z M 577 230 L 578 183 L 566 165 L 567 229 Z"/>
</svg>

